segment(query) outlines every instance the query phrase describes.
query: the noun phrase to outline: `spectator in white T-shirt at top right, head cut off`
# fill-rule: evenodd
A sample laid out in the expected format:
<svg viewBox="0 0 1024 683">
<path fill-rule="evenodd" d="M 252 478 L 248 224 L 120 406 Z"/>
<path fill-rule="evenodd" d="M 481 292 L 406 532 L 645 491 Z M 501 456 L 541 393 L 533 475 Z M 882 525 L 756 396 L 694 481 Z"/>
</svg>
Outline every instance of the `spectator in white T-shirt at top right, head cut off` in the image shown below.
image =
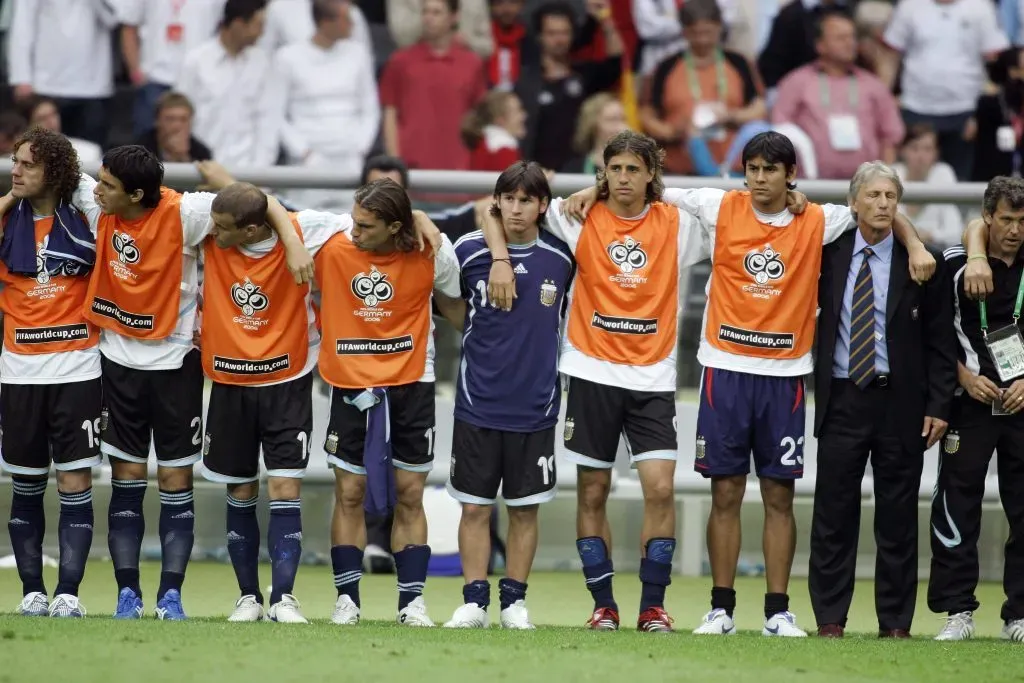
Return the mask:
<svg viewBox="0 0 1024 683">
<path fill-rule="evenodd" d="M 973 115 L 985 84 L 985 62 L 1010 47 L 990 0 L 902 0 L 884 40 L 892 53 L 881 65 L 889 86 L 899 57 L 903 122 L 930 123 L 942 161 L 967 180 L 974 163 Z"/>
</svg>

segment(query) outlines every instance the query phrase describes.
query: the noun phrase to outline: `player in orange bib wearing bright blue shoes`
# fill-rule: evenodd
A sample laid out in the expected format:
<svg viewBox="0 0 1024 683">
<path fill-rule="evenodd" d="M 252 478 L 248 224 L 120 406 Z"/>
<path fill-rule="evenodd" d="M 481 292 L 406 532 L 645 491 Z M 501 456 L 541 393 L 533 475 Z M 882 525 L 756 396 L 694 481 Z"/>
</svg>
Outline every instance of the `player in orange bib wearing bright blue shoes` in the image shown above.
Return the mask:
<svg viewBox="0 0 1024 683">
<path fill-rule="evenodd" d="M 180 591 L 193 548 L 193 465 L 203 434 L 203 369 L 193 346 L 197 247 L 213 227 L 214 196 L 161 187 L 163 177 L 160 160 L 144 147 L 115 147 L 103 156 L 98 182 L 83 174 L 74 196 L 96 230 L 97 265 L 84 311 L 100 328 L 100 451 L 112 469 L 108 542 L 119 591 L 116 618 L 142 615 L 138 561 L 151 442 L 161 503 L 156 615 L 185 618 Z M 308 280 L 312 261 L 275 200 L 269 221 L 289 269 Z"/>
</svg>

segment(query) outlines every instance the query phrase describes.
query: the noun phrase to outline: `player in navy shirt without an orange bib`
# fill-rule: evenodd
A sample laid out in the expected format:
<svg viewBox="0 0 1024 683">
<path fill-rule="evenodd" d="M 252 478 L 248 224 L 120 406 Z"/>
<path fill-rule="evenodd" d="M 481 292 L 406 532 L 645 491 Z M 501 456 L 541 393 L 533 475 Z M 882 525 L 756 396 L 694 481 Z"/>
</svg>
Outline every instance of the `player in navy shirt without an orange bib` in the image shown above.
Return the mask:
<svg viewBox="0 0 1024 683">
<path fill-rule="evenodd" d="M 501 624 L 534 628 L 526 580 L 537 553 L 538 506 L 555 497 L 558 340 L 573 270 L 565 243 L 541 231 L 550 202 L 544 169 L 532 162 L 508 167 L 495 185 L 488 220 L 504 230 L 520 294 L 511 311 L 487 301 L 492 258 L 480 231 L 455 245 L 463 299 L 453 305 L 437 297 L 438 308 L 464 330 L 449 493 L 462 503 L 465 604 L 445 627 L 487 627 L 490 516 L 501 486 L 509 515 L 506 577 L 498 582 Z"/>
</svg>

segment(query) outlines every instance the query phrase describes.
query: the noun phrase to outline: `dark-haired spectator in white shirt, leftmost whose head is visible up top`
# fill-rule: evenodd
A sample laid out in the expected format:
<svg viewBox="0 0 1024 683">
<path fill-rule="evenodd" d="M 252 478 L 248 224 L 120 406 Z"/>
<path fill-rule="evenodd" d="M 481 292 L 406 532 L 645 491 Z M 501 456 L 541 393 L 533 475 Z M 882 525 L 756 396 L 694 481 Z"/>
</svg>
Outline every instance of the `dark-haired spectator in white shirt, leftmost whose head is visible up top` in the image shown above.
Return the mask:
<svg viewBox="0 0 1024 683">
<path fill-rule="evenodd" d="M 256 46 L 265 6 L 265 0 L 227 0 L 217 36 L 185 55 L 174 88 L 196 108 L 193 132 L 228 167 L 278 160 L 270 57 Z"/>
</svg>

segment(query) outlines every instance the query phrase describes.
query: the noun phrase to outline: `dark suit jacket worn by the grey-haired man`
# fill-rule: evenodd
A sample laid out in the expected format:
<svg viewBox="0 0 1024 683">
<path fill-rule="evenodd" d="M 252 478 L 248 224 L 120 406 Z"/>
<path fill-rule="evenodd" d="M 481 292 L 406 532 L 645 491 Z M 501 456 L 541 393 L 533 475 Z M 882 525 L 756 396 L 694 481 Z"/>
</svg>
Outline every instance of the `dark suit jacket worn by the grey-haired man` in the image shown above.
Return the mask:
<svg viewBox="0 0 1024 683">
<path fill-rule="evenodd" d="M 828 417 L 833 361 L 839 335 L 843 294 L 853 261 L 856 232 L 848 230 L 827 245 L 818 281 L 818 335 L 814 361 L 814 435 L 820 436 Z M 953 289 L 945 259 L 938 251 L 935 274 L 924 285 L 910 280 L 909 257 L 903 245 L 893 244 L 886 298 L 886 343 L 889 352 L 890 405 L 898 412 L 900 437 L 910 451 L 924 451 L 921 427 L 925 417 L 949 419 L 956 389 L 956 335 L 953 328 Z"/>
</svg>

